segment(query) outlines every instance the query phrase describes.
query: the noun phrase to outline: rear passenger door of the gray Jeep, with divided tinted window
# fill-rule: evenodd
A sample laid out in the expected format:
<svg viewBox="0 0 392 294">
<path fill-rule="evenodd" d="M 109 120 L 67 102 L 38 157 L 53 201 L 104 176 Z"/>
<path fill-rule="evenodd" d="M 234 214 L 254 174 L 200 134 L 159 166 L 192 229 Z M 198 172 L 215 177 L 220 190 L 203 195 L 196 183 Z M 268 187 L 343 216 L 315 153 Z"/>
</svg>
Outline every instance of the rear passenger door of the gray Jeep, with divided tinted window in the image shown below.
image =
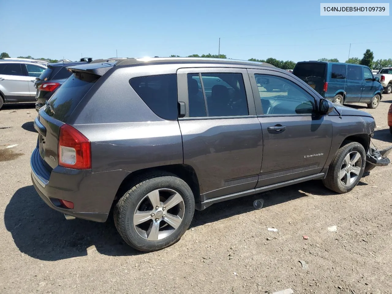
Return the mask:
<svg viewBox="0 0 392 294">
<path fill-rule="evenodd" d="M 246 69 L 179 69 L 177 76 L 184 164 L 196 171 L 201 201 L 253 189 L 263 136 Z"/>
</svg>

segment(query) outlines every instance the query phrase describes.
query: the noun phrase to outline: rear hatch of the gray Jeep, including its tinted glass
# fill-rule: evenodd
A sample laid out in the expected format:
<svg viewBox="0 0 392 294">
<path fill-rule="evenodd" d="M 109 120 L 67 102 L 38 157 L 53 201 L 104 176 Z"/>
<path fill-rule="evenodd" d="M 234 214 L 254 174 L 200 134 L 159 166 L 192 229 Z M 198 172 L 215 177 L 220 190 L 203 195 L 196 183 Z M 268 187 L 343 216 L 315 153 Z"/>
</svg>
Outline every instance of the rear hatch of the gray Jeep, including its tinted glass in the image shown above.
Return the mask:
<svg viewBox="0 0 392 294">
<path fill-rule="evenodd" d="M 74 72 L 38 112 L 34 127 L 38 131 L 42 163 L 47 169 L 58 165 L 60 127 L 65 123 L 70 124 L 70 116 L 76 106 L 99 78 L 99 75 L 85 71 Z"/>
</svg>

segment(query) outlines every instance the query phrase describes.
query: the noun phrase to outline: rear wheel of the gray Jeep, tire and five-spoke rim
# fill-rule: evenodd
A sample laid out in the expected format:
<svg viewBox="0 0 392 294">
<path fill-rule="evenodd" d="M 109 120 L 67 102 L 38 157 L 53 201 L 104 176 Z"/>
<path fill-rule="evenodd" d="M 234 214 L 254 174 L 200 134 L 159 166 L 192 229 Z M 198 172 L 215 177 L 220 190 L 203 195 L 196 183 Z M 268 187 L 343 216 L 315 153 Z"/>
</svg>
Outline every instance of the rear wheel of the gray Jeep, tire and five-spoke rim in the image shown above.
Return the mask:
<svg viewBox="0 0 392 294">
<path fill-rule="evenodd" d="M 185 181 L 167 172 L 146 174 L 114 207 L 114 223 L 123 240 L 140 251 L 168 247 L 185 233 L 195 209 Z"/>
</svg>

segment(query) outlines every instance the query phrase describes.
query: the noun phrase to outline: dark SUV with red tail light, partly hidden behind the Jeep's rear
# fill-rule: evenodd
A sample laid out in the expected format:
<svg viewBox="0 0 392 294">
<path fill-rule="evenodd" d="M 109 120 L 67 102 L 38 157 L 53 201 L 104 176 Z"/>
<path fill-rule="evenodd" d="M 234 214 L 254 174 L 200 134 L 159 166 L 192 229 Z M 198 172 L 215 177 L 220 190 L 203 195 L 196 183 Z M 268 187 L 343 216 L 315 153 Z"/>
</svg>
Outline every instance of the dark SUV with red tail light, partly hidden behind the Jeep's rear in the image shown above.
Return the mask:
<svg viewBox="0 0 392 294">
<path fill-rule="evenodd" d="M 67 66 L 82 65 L 92 61 L 92 58 L 81 58 L 78 62 L 56 62 L 48 64 L 47 69 L 36 78 L 34 87 L 37 89 L 35 94 L 35 109 L 39 111 L 45 105 L 45 101 L 49 100 L 53 93 L 60 87 L 71 72 L 67 70 Z"/>
</svg>

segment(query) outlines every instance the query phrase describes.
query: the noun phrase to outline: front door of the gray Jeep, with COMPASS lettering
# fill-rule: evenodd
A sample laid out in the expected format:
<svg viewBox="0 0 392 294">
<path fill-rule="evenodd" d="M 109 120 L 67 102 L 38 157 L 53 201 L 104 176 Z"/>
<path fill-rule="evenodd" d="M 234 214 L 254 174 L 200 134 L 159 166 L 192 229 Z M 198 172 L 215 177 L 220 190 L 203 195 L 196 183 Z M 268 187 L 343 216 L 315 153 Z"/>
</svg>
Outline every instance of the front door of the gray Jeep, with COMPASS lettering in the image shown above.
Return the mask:
<svg viewBox="0 0 392 294">
<path fill-rule="evenodd" d="M 250 75 L 254 96 L 260 97 L 255 103 L 264 142 L 256 187 L 321 172 L 332 142 L 332 123 L 328 115 L 317 113 L 318 100 L 288 74 L 252 70 Z M 276 85 L 273 90 L 265 87 L 271 83 Z"/>
</svg>

